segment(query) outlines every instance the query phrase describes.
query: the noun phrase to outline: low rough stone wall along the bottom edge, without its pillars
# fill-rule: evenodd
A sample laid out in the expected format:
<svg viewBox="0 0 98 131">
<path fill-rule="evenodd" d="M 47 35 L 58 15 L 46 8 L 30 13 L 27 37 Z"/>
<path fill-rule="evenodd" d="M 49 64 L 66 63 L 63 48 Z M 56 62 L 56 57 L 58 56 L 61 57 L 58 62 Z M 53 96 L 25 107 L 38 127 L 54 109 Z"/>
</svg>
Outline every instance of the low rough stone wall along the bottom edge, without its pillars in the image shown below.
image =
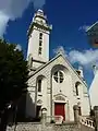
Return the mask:
<svg viewBox="0 0 98 131">
<path fill-rule="evenodd" d="M 95 131 L 91 128 L 74 122 L 63 124 L 19 123 L 15 130 L 14 128 L 9 128 L 7 131 Z"/>
</svg>

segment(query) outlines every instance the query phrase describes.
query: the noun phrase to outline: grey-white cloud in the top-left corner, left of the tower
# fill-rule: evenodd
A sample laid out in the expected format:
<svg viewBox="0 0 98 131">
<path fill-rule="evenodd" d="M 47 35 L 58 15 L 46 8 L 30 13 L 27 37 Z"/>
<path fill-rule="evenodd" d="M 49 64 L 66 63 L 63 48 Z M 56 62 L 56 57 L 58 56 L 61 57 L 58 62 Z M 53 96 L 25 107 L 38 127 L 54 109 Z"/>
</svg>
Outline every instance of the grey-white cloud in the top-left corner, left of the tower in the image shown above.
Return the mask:
<svg viewBox="0 0 98 131">
<path fill-rule="evenodd" d="M 35 9 L 42 8 L 46 0 L 0 0 L 0 36 L 5 33 L 9 21 L 21 17 L 29 3 Z"/>
</svg>

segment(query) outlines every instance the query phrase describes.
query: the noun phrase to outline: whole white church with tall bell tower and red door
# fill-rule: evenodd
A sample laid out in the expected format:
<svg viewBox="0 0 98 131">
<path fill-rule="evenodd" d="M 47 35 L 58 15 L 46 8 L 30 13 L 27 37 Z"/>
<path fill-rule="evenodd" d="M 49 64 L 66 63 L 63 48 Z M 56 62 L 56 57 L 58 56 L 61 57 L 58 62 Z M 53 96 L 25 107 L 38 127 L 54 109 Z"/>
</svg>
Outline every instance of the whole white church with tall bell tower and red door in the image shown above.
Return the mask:
<svg viewBox="0 0 98 131">
<path fill-rule="evenodd" d="M 44 11 L 38 10 L 27 32 L 29 80 L 26 117 L 38 118 L 46 109 L 47 116 L 62 116 L 64 121 L 72 121 L 74 105 L 78 105 L 79 115 L 89 115 L 88 87 L 83 69 L 75 70 L 62 52 L 49 59 L 51 31 Z"/>
</svg>

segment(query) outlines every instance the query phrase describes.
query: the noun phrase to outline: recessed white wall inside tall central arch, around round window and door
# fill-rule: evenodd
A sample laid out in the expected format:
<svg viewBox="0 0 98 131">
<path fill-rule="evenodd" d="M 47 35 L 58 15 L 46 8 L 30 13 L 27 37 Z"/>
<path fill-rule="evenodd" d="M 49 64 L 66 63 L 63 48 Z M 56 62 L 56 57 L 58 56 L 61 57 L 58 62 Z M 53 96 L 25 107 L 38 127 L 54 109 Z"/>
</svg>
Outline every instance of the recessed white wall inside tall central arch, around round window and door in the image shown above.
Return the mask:
<svg viewBox="0 0 98 131">
<path fill-rule="evenodd" d="M 57 81 L 54 80 L 54 72 L 57 71 L 61 71 L 63 73 L 63 82 L 62 83 L 57 83 Z M 69 96 L 72 92 L 72 79 L 70 75 L 70 71 L 63 67 L 63 66 L 56 66 L 53 67 L 52 71 L 52 99 L 53 99 L 53 104 L 52 104 L 52 116 L 54 116 L 54 103 L 64 103 L 64 110 L 65 110 L 65 120 L 70 119 L 70 111 L 68 110 L 69 108 Z M 59 94 L 62 94 L 61 97 L 63 97 L 65 100 L 54 100 L 56 97 L 58 97 Z"/>
</svg>

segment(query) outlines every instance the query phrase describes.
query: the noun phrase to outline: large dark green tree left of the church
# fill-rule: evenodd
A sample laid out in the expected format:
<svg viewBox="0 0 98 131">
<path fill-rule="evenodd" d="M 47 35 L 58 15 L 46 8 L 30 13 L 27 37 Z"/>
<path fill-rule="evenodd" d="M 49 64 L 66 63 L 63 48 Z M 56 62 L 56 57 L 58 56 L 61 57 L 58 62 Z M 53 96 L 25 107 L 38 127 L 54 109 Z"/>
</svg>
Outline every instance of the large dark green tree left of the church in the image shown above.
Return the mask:
<svg viewBox="0 0 98 131">
<path fill-rule="evenodd" d="M 2 122 L 5 122 L 8 105 L 16 102 L 27 91 L 27 62 L 23 51 L 16 49 L 16 45 L 0 39 L 0 128 L 5 124 Z"/>
</svg>

